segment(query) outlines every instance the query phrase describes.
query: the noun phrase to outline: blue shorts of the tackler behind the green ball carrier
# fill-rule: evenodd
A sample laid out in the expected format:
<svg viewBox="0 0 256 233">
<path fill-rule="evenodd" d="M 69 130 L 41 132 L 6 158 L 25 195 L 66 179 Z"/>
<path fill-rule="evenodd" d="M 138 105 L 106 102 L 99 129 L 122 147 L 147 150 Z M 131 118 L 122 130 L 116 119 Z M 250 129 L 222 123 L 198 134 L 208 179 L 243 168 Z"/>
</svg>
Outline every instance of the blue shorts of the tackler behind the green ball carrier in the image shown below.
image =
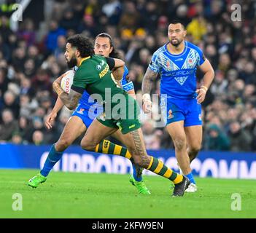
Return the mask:
<svg viewBox="0 0 256 233">
<path fill-rule="evenodd" d="M 92 109 L 88 106 L 79 104 L 71 116 L 78 116 L 80 119 L 82 119 L 82 122 L 88 128 L 96 116 L 101 113 L 102 108 Z"/>
</svg>

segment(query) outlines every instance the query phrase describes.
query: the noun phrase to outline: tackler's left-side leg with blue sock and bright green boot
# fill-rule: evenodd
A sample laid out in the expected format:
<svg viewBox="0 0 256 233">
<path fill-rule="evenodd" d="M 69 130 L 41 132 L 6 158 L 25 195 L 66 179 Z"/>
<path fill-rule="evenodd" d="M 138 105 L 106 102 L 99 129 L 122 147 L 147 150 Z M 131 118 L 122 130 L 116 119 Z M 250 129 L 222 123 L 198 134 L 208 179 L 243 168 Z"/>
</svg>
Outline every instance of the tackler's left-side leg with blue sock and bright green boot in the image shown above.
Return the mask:
<svg viewBox="0 0 256 233">
<path fill-rule="evenodd" d="M 40 183 L 46 181 L 47 175 L 53 169 L 54 165 L 61 159 L 63 151 L 71 145 L 71 143 L 76 140 L 79 135 L 84 133 L 86 127 L 78 116 L 71 116 L 68 122 L 63 129 L 63 133 L 59 138 L 58 142 L 53 144 L 50 149 L 50 152 L 47 156 L 47 159 L 44 162 L 44 167 L 40 173 L 34 175 L 29 181 L 28 186 L 36 188 Z"/>
</svg>

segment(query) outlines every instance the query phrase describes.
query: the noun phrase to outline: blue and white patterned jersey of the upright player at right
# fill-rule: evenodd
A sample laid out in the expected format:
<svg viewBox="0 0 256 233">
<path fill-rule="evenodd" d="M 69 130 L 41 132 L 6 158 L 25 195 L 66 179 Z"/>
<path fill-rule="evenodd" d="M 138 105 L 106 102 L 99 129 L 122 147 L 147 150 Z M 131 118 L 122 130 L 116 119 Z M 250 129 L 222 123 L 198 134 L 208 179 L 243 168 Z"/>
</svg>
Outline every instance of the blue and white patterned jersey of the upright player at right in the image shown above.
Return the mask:
<svg viewBox="0 0 256 233">
<path fill-rule="evenodd" d="M 167 98 L 195 98 L 196 69 L 205 58 L 195 44 L 185 42 L 185 49 L 179 55 L 168 52 L 167 44 L 152 55 L 150 68 L 160 74 L 160 92 Z"/>
</svg>

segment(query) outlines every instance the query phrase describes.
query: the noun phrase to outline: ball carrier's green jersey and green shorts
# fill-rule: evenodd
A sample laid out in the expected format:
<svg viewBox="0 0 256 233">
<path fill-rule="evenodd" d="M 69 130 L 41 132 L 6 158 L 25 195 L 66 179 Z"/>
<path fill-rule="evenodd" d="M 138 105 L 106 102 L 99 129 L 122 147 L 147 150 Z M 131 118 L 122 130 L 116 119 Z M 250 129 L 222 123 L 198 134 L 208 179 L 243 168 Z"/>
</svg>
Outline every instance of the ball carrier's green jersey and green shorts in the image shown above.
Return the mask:
<svg viewBox="0 0 256 233">
<path fill-rule="evenodd" d="M 90 95 L 101 95 L 104 112 L 97 117 L 98 121 L 107 127 L 120 128 L 123 134 L 129 133 L 140 127 L 139 104 L 117 85 L 108 63 L 115 66 L 112 58 L 100 55 L 84 58 L 74 74 L 71 89 L 81 94 L 86 90 Z M 120 95 L 123 100 L 119 101 Z"/>
</svg>

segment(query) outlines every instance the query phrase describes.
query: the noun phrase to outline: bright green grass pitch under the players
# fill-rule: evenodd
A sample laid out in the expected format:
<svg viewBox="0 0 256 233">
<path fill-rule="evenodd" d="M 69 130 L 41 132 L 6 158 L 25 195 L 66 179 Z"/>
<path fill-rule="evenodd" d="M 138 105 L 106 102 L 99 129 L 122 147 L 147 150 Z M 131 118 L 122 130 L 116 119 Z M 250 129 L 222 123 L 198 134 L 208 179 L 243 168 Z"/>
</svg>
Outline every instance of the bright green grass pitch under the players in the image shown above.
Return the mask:
<svg viewBox="0 0 256 233">
<path fill-rule="evenodd" d="M 256 218 L 251 180 L 196 178 L 197 193 L 171 197 L 170 181 L 144 176 L 152 192 L 145 197 L 129 175 L 52 172 L 31 189 L 27 181 L 36 173 L 0 170 L 0 218 Z M 22 195 L 21 211 L 12 210 L 15 193 Z M 241 195 L 241 210 L 231 210 L 234 193 Z"/>
</svg>

